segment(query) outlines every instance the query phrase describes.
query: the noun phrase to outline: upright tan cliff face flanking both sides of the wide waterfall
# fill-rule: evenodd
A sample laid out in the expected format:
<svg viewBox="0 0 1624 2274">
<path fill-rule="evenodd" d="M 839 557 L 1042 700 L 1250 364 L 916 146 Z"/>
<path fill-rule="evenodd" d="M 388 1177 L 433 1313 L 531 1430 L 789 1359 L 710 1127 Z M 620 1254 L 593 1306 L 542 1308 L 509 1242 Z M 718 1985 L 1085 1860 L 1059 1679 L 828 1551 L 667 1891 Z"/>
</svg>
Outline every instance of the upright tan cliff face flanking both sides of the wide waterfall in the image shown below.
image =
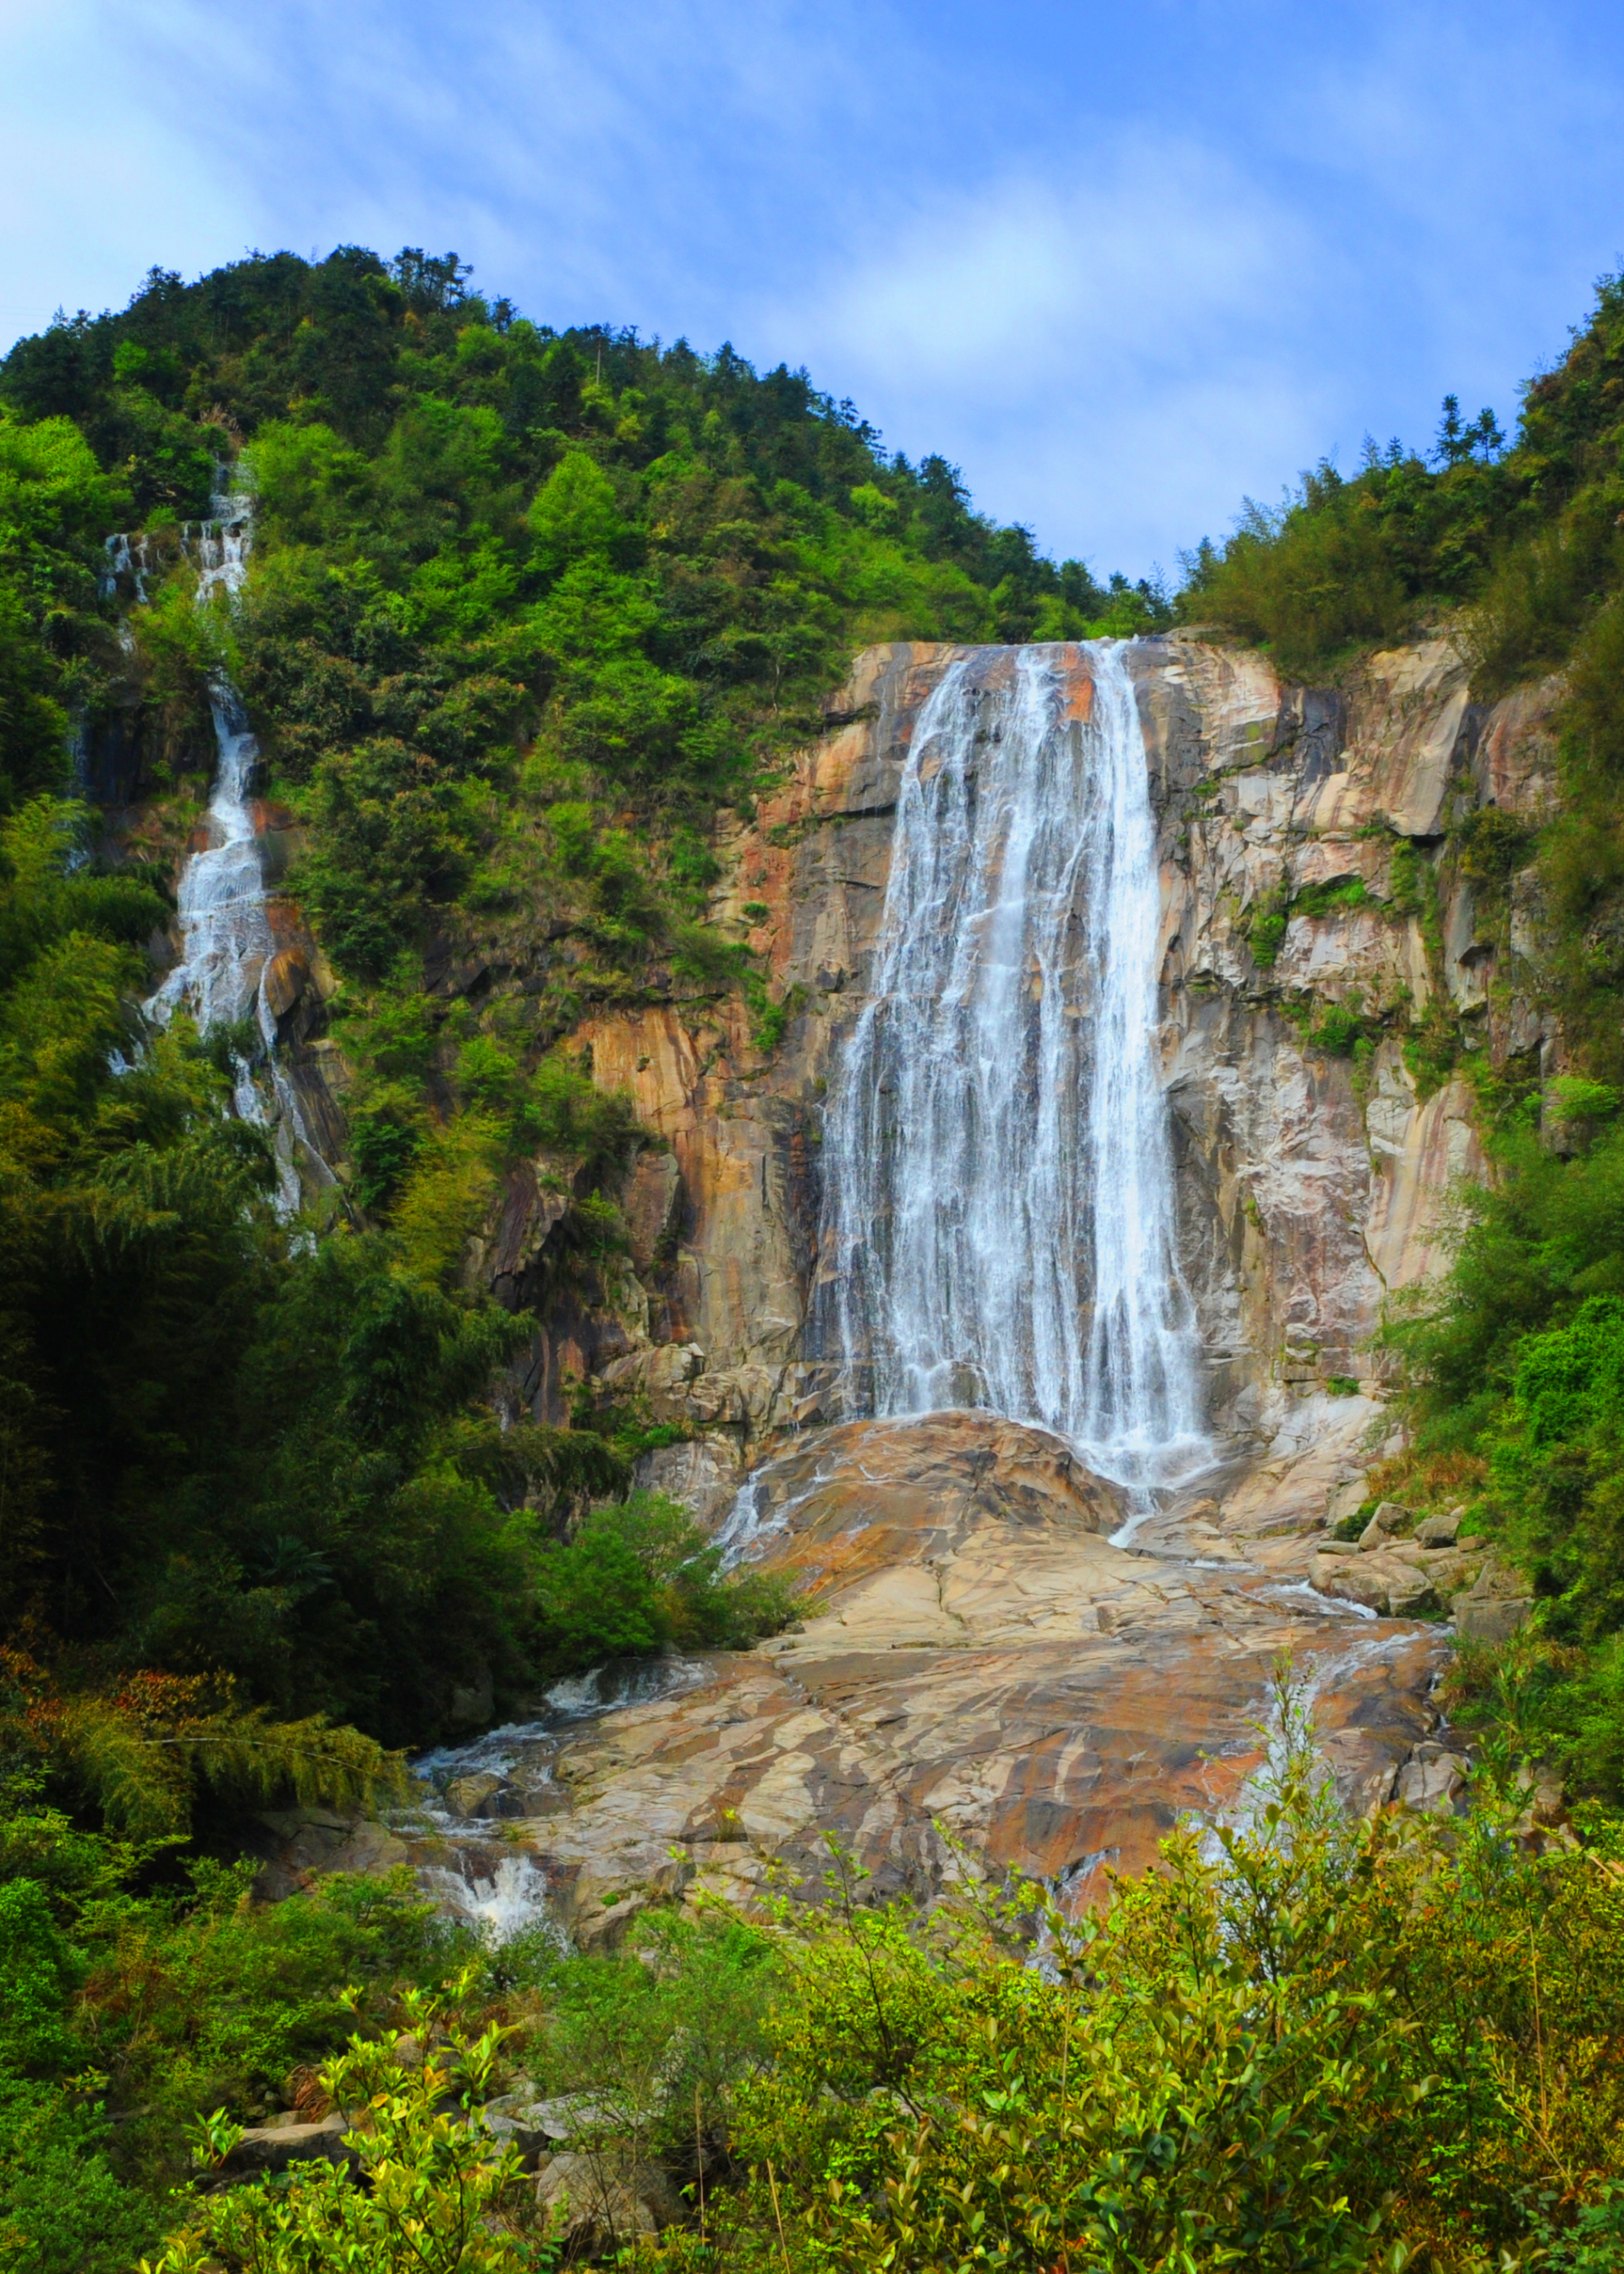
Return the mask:
<svg viewBox="0 0 1624 2274">
<path fill-rule="evenodd" d="M 789 996 L 776 1051 L 739 1007 L 580 1028 L 596 1080 L 628 1089 L 671 1151 L 644 1155 L 628 1194 L 635 1278 L 612 1314 L 564 1310 L 530 1392 L 546 1408 L 564 1373 L 600 1371 L 698 1426 L 653 1480 L 705 1514 L 764 1435 L 839 1419 L 814 1330 L 823 1096 L 867 1001 L 908 739 L 960 653 L 857 657 L 826 739 L 719 839 L 714 916 Z M 973 655 L 994 673 L 1008 650 Z M 1085 705 L 1087 650 L 1058 657 Z M 1522 960 L 1528 882 L 1476 907 L 1447 830 L 1549 796 L 1549 698 L 1472 705 L 1442 641 L 1376 655 L 1337 691 L 1192 637 L 1140 641 L 1133 673 L 1185 1271 L 1215 1421 L 1258 1444 L 1333 1378 L 1374 1387 L 1383 1296 L 1435 1267 L 1449 1185 L 1483 1167 L 1469 1082 L 1415 1037 L 1447 1012 L 1494 1064 L 1547 1048 Z"/>
</svg>

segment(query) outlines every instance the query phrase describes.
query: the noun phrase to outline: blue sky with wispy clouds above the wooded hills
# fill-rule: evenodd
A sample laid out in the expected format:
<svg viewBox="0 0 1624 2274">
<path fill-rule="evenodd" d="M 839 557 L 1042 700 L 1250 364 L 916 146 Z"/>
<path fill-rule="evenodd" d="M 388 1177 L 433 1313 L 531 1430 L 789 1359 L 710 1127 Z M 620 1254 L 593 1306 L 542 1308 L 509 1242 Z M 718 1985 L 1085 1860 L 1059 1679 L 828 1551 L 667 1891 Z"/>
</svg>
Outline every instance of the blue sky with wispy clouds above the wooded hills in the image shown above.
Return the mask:
<svg viewBox="0 0 1624 2274">
<path fill-rule="evenodd" d="M 1624 252 L 1624 7 L 0 0 L 0 332 L 155 262 L 455 248 L 807 364 L 1096 568 L 1515 416 Z"/>
</svg>

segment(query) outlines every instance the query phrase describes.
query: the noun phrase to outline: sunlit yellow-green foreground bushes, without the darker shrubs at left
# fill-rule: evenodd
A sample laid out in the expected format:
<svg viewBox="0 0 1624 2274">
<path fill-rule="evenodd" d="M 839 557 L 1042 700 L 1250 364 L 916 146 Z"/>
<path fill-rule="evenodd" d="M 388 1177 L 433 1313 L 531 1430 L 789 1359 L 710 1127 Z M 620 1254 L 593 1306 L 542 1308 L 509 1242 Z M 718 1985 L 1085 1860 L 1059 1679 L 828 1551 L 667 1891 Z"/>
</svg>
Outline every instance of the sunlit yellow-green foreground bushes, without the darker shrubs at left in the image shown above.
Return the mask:
<svg viewBox="0 0 1624 2274">
<path fill-rule="evenodd" d="M 691 2274 L 1604 2274 L 1619 1826 L 1542 1842 L 1490 1778 L 1467 1819 L 1353 1824 L 1290 1683 L 1278 1706 L 1246 1819 L 1178 1833 L 1099 1919 L 969 1860 L 930 1910 L 878 1903 L 837 1853 L 762 1926 L 655 1912 L 619 1960 L 489 1953 L 439 2085 L 359 2040 L 325 2072 L 371 2188 L 230 2190 L 166 2274 L 405 2265 L 400 2206 L 446 2274 L 553 2247 Z M 689 2215 L 607 2254 L 548 2238 L 494 2144 L 430 2110 L 446 2078 L 580 2094 L 582 2160 L 660 2153 Z"/>
</svg>

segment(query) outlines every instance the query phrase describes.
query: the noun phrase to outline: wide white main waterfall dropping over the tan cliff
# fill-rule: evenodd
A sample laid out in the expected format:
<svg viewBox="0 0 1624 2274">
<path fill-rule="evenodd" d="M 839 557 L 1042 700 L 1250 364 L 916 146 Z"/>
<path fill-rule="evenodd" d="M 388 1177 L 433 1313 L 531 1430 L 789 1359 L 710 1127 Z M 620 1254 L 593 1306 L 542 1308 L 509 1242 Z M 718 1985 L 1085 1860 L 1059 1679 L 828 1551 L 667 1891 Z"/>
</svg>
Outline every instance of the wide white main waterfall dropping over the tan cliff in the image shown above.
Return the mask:
<svg viewBox="0 0 1624 2274">
<path fill-rule="evenodd" d="M 1130 1487 L 1203 1464 L 1158 916 L 1126 644 L 951 664 L 908 750 L 873 998 L 823 1139 L 821 1317 L 848 1403 L 1042 1421 Z"/>
</svg>

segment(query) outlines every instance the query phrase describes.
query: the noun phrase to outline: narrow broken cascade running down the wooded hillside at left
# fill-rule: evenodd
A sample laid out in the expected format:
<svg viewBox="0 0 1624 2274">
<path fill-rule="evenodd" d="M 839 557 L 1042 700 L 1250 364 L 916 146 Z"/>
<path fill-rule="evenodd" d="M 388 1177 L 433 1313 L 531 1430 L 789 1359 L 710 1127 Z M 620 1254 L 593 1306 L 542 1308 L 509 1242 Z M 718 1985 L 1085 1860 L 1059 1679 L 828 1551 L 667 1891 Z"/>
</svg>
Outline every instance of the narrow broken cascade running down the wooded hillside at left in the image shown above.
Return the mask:
<svg viewBox="0 0 1624 2274">
<path fill-rule="evenodd" d="M 252 546 L 252 496 L 234 487 L 230 468 L 221 468 L 221 487 L 209 498 L 209 521 L 189 521 L 182 546 L 198 568 L 198 607 L 216 591 L 241 591 Z M 116 591 L 121 575 L 134 580 L 136 603 L 146 600 L 152 575 L 148 539 L 107 539 L 105 591 Z M 214 744 L 218 764 L 209 791 L 209 844 L 193 853 L 175 894 L 180 914 L 180 962 L 148 1001 L 148 1016 L 168 1026 L 187 1003 L 207 1032 L 221 1021 L 255 1019 L 268 1069 L 271 1107 L 246 1060 L 237 1060 L 237 1112 L 243 1121 L 273 1128 L 277 1153 L 280 1210 L 296 1214 L 300 1205 L 298 1160 L 318 1182 L 334 1182 L 332 1169 L 312 1144 L 298 1094 L 275 1055 L 275 1014 L 266 1001 L 266 971 L 275 955 L 271 912 L 266 907 L 264 862 L 255 832 L 250 789 L 259 764 L 259 744 L 248 728 L 243 700 L 232 682 L 216 673 L 209 682 Z"/>
</svg>

